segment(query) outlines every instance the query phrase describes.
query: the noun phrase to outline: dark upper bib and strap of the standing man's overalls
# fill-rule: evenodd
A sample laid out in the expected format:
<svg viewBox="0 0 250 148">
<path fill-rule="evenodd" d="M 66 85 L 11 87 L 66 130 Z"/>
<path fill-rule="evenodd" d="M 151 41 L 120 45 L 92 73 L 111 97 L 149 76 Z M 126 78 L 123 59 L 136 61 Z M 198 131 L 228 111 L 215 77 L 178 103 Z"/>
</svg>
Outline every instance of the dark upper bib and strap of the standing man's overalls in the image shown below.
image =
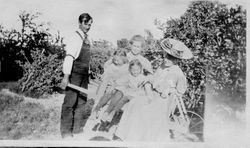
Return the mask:
<svg viewBox="0 0 250 148">
<path fill-rule="evenodd" d="M 90 44 L 86 42 L 86 38 L 76 31 L 76 33 L 82 38 L 82 48 L 77 59 L 74 60 L 72 72 L 79 74 L 88 74 L 89 61 L 90 61 Z"/>
</svg>

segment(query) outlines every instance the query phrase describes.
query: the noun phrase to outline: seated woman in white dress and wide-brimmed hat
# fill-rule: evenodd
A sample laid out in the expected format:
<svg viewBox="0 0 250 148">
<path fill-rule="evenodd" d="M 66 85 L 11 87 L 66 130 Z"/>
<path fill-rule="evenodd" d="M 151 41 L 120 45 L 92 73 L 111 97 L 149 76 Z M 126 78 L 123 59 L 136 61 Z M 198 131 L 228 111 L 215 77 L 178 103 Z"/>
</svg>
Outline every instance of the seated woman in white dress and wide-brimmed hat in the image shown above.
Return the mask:
<svg viewBox="0 0 250 148">
<path fill-rule="evenodd" d="M 153 98 L 137 96 L 128 104 L 120 120 L 116 136 L 123 141 L 169 141 L 169 115 L 174 95 L 181 97 L 187 82 L 177 66 L 180 59 L 192 58 L 191 51 L 181 42 L 164 39 L 160 42 L 163 62 L 146 88 L 152 88 Z M 150 86 L 151 84 L 151 86 Z"/>
</svg>

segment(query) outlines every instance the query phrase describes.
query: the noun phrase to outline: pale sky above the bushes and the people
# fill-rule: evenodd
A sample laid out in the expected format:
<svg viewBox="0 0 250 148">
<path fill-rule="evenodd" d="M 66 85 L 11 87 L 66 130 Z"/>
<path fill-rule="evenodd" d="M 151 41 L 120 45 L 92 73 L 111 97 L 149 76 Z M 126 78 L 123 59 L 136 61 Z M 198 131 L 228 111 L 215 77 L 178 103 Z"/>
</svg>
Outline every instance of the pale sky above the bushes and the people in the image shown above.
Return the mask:
<svg viewBox="0 0 250 148">
<path fill-rule="evenodd" d="M 246 0 L 220 0 L 226 4 L 245 5 Z M 40 12 L 40 21 L 50 22 L 53 31 L 59 30 L 63 37 L 78 28 L 78 16 L 87 12 L 93 17 L 89 31 L 90 39 L 105 39 L 116 45 L 122 38 L 135 34 L 145 35 L 150 30 L 156 38 L 162 31 L 154 20 L 165 22 L 178 18 L 188 8 L 191 0 L 0 0 L 0 24 L 5 28 L 18 29 L 21 11 Z"/>
</svg>

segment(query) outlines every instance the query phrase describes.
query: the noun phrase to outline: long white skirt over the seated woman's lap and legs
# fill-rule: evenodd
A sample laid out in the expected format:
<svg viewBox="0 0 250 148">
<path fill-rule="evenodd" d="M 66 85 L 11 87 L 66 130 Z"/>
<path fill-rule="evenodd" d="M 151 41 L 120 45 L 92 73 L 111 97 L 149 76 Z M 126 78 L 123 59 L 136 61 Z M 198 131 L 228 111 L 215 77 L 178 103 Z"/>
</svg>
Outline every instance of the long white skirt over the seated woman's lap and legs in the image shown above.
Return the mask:
<svg viewBox="0 0 250 148">
<path fill-rule="evenodd" d="M 124 110 L 117 136 L 125 141 L 168 139 L 166 103 L 167 101 L 162 99 L 153 100 L 150 104 L 146 98 L 131 100 Z"/>
</svg>

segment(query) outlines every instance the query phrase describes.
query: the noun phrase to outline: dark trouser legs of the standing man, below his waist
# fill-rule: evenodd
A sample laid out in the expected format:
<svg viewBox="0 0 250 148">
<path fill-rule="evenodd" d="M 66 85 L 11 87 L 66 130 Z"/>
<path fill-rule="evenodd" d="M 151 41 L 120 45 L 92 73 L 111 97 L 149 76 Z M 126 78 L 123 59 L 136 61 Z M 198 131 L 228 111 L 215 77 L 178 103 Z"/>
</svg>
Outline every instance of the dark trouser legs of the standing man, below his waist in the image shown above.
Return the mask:
<svg viewBox="0 0 250 148">
<path fill-rule="evenodd" d="M 88 88 L 88 75 L 72 73 L 71 84 Z M 61 114 L 62 137 L 81 133 L 89 115 L 86 115 L 85 107 L 87 96 L 78 91 L 67 88 Z"/>
</svg>

